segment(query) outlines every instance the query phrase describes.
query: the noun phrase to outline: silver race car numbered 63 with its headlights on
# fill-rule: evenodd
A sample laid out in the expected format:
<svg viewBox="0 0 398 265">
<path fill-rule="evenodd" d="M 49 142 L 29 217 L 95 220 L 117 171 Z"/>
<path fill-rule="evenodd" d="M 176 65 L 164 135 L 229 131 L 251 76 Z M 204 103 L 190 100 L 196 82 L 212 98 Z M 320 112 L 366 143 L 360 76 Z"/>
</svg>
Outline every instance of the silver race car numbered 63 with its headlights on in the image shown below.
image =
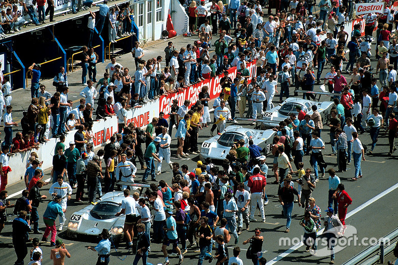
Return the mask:
<svg viewBox="0 0 398 265">
<path fill-rule="evenodd" d="M 131 188 L 130 194 L 139 192 L 139 188 Z M 66 235 L 69 238 L 94 239 L 107 229 L 113 240 L 118 242 L 123 236 L 125 215 L 115 216 L 121 210 L 122 191 L 111 191 L 103 195 L 95 205 L 89 205 L 74 212 L 69 218 Z"/>
</svg>

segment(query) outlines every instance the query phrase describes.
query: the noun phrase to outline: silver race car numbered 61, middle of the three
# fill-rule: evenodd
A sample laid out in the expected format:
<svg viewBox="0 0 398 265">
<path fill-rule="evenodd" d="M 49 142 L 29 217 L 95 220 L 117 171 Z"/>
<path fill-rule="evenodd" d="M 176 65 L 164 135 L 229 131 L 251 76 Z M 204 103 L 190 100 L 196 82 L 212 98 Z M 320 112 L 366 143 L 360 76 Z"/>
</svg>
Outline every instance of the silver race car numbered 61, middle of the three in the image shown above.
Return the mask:
<svg viewBox="0 0 398 265">
<path fill-rule="evenodd" d="M 271 152 L 271 145 L 275 135 L 273 130 L 254 130 L 243 128 L 239 125 L 230 125 L 221 135 L 215 135 L 204 141 L 200 148 L 200 159 L 204 161 L 211 158 L 212 161 L 224 160 L 235 141 L 245 140 L 245 146 L 249 146 L 249 140 L 262 148 L 264 154 Z"/>
</svg>

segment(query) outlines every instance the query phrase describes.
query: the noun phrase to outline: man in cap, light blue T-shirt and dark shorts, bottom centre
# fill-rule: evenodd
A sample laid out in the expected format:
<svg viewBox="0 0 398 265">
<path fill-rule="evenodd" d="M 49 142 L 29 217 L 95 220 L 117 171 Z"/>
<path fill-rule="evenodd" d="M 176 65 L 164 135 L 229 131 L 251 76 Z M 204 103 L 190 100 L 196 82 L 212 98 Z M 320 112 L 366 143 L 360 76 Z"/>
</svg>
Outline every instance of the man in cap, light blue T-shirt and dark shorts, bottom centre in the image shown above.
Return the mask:
<svg viewBox="0 0 398 265">
<path fill-rule="evenodd" d="M 173 244 L 174 250 L 177 252 L 177 255 L 179 256 L 178 264 L 181 264 L 183 262 L 183 255 L 181 254 L 181 250 L 178 247 L 178 234 L 177 234 L 177 223 L 176 219 L 173 217 L 173 211 L 170 208 L 166 208 L 165 210 L 166 213 L 166 227 L 163 228 L 163 230 L 166 232 L 166 237 L 163 241 L 162 245 L 162 251 L 163 255 L 165 257 L 165 262 L 163 265 L 169 265 L 169 257 L 167 256 L 167 247 L 170 244 Z"/>
</svg>

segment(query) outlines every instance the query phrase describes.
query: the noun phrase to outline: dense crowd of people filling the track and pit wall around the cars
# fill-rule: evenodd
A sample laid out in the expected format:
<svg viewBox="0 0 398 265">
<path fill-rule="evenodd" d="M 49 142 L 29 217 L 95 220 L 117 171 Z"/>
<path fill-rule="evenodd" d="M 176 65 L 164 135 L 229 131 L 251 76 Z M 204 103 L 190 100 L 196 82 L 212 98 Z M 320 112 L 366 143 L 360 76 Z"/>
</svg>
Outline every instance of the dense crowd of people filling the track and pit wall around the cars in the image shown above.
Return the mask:
<svg viewBox="0 0 398 265">
<path fill-rule="evenodd" d="M 274 5 L 276 3 L 278 6 Z M 237 111 L 240 117 L 256 119 L 264 111 L 271 110 L 278 85 L 281 87 L 280 102 L 283 102 L 284 97 L 291 96 L 291 87 L 312 91 L 315 83 L 323 83 L 334 94 L 331 98 L 331 117 L 327 121 L 322 121 L 316 105 L 312 106 L 311 114 L 298 105 L 296 112 L 290 113 L 289 118 L 274 128 L 277 134 L 273 138 L 270 156 L 275 181 L 271 183 L 278 185 L 276 195 L 282 205 L 282 214 L 287 219 L 284 230 L 290 232 L 294 203 L 297 202 L 303 208 L 300 226 L 304 229 L 306 251 L 316 252 L 316 233 L 322 227 L 330 232 L 326 233 L 330 242 L 341 236 L 346 227 L 347 207 L 352 199 L 337 173 L 346 172 L 347 164 L 353 160 L 355 172 L 352 180 L 363 177 L 361 160 L 365 160 L 368 148 L 362 144 L 359 134 L 370 133 L 372 145 L 368 154 L 372 154 L 381 128 L 386 127 L 390 144 L 388 154 L 391 156 L 396 150 L 397 43 L 395 39 L 390 43 L 393 36 L 389 27 L 394 22 L 391 22 L 392 11 L 385 10 L 380 15 L 364 15 L 365 31 L 370 33 L 368 35 L 373 32 L 372 23 L 376 20 L 379 22 L 379 45 L 376 50 L 376 74 L 380 72 L 379 82 L 382 87 L 379 89 L 378 80 L 371 72 L 371 39 L 362 39 L 358 26 L 355 26 L 351 36 L 344 31 L 344 21 L 352 16 L 351 1 L 321 0 L 317 4 L 320 8 L 319 15 L 312 14 L 314 6 L 315 2 L 310 0 L 281 1 L 280 4 L 279 1 L 271 1 L 268 12 L 270 14 L 271 8 L 276 7 L 276 14 L 266 18 L 260 1 L 255 4 L 231 1 L 228 5 L 213 1 L 209 10 L 204 7 L 204 2 L 198 7 L 195 1 L 187 3 L 190 31 L 192 34 L 198 32 L 199 38 L 194 45 L 187 44 L 180 50 L 169 41 L 164 50 L 166 67 L 163 71 L 160 67 L 163 57 L 145 61 L 145 53 L 136 43 L 131 52 L 136 68 L 134 75 L 130 76 L 129 69 L 112 57 L 103 78 L 97 82 L 95 65 L 98 55 L 91 45 L 85 47 L 82 59 L 82 83 L 85 88 L 82 89 L 82 98 L 75 108 L 68 99 L 65 69 L 61 68 L 54 77 L 53 85 L 57 92 L 51 95 L 40 84 L 41 66 L 32 64 L 29 67 L 32 74 L 32 100 L 20 122 L 22 132 L 18 132 L 14 138 L 12 128 L 18 126 L 18 123 L 12 121 L 11 89 L 8 77 L 4 77 L 3 94 L 0 95 L 0 101 L 6 106 L 6 112 L 2 115 L 5 138 L 0 156 L 0 232 L 6 221 L 6 208 L 14 207 L 14 212 L 18 215 L 13 221 L 13 241 L 15 236 L 14 248 L 18 258 L 15 264 L 23 264 L 23 258 L 27 255 L 26 240 L 30 225 L 33 226 L 33 233 L 42 233 L 39 230 L 40 216 L 37 208 L 47 195 L 41 195 L 40 188 L 51 184 L 48 196 L 52 197 L 42 216 L 46 228 L 41 241 L 48 241 L 51 234 L 51 246 L 56 248 L 54 253 L 63 253 L 61 258 L 70 257 L 62 241 L 56 240 L 56 234 L 64 229 L 65 211 L 72 194 L 76 192 L 75 200 L 78 203 L 87 201 L 95 204 L 97 196 L 101 197 L 106 192 L 117 189 L 117 180 L 137 181 L 138 159 L 139 169 L 144 170 L 142 179 L 138 181 L 148 183 L 150 175 L 150 180 L 156 184 L 151 183 L 143 198 L 136 193 L 130 194 L 128 185 L 120 187 L 125 199 L 118 215 L 126 215 L 124 238 L 127 248 L 132 248 L 133 245 L 133 227 L 136 226 L 138 231 L 137 256 L 133 264 L 136 265 L 141 258 L 146 264 L 151 244 L 162 244 L 164 265 L 170 264 L 169 257 L 172 256 L 178 257 L 181 264 L 183 255 L 188 251 L 199 253 L 198 265 L 205 259 L 210 263 L 216 259 L 218 265 L 241 265 L 239 247 L 234 248 L 234 257 L 229 258 L 226 244 L 232 245 L 231 234 L 234 245 L 238 244 L 243 223 L 245 229 L 249 230 L 250 223 L 257 222 L 257 208 L 261 222 L 266 222 L 264 206 L 269 200 L 265 187 L 266 179 L 270 176 L 267 158 L 261 148 L 252 140 L 248 146 L 244 140 L 238 141 L 221 166 L 206 159 L 204 163 L 199 161 L 197 168 L 189 169 L 185 164 L 180 167 L 176 160 L 199 154 L 198 137 L 203 127 L 211 126 L 211 135 L 214 131 L 222 134 L 227 121 L 239 123 L 235 116 Z M 116 6 L 115 9 L 119 10 L 119 7 Z M 100 9 L 102 24 L 108 12 L 102 10 L 101 13 Z M 114 10 L 110 12 L 112 16 L 115 14 Z M 206 18 L 207 13 L 210 13 L 210 19 Z M 90 15 L 94 20 L 95 15 Z M 110 15 L 109 19 L 112 21 Z M 264 22 L 263 19 L 268 21 Z M 114 32 L 110 33 L 113 38 Z M 327 38 L 321 41 L 320 36 L 324 34 Z M 219 38 L 213 42 L 213 36 L 217 35 Z M 209 48 L 212 46 L 215 54 L 210 57 Z M 349 49 L 348 60 L 345 58 L 345 47 Z M 247 64 L 254 60 L 256 69 L 253 76 L 247 69 Z M 342 75 L 344 61 L 348 61 L 346 77 Z M 322 79 L 326 65 L 330 66 L 330 72 Z M 237 68 L 233 80 L 227 71 L 231 67 Z M 89 79 L 86 78 L 87 73 Z M 208 87 L 203 86 L 198 102 L 185 100 L 179 106 L 179 101 L 173 100 L 171 111 L 167 113 L 170 115 L 169 120 L 164 118 L 165 113 L 160 112 L 159 117 L 154 117 L 145 130 L 135 127 L 133 123 L 127 124 L 129 109 L 142 107 L 161 95 L 177 93 L 217 74 L 224 76 L 220 79 L 222 92 L 212 104 L 213 119 L 209 111 Z M 309 99 L 312 94 L 303 93 L 303 97 Z M 118 133 L 110 137 L 110 143 L 95 154 L 93 122 L 108 116 L 117 117 Z M 325 136 L 324 125 L 329 127 L 326 131 L 330 137 L 330 155 L 336 156 L 337 171 L 330 167 L 326 169 L 328 165 L 322 156 L 326 148 L 325 140 L 322 139 Z M 176 129 L 175 133 L 173 128 Z M 68 146 L 65 135 L 73 130 L 74 141 L 69 142 Z M 10 205 L 5 190 L 10 170 L 8 157 L 13 153 L 39 148 L 40 143 L 50 138 L 50 131 L 52 137 L 59 139 L 53 156 L 51 183 L 43 181 L 41 162 L 31 152 L 24 176 L 26 190 L 18 199 L 19 203 Z M 173 157 L 172 139 L 177 139 L 178 143 Z M 309 163 L 308 160 L 304 161 L 304 156 L 308 156 Z M 162 176 L 163 160 L 172 169 L 170 185 Z M 325 192 L 328 204 L 323 208 L 326 211 L 326 218 L 323 218 L 312 191 L 319 179 L 325 177 L 325 173 L 329 175 L 328 191 Z M 296 175 L 298 179 L 295 181 L 292 178 Z M 69 183 L 65 181 L 66 178 Z M 244 245 L 251 245 L 247 257 L 254 265 L 265 265 L 261 229 L 255 228 L 254 233 L 253 237 L 243 241 Z M 97 247 L 88 249 L 98 252 L 98 264 L 108 264 L 108 232 L 102 231 L 101 237 Z M 33 244 L 37 249 L 38 240 Z M 173 246 L 171 254 L 167 251 L 170 244 Z M 329 244 L 328 247 L 331 250 L 330 263 L 333 264 L 334 245 Z M 37 256 L 32 255 L 32 259 L 38 261 L 40 258 Z"/>
</svg>

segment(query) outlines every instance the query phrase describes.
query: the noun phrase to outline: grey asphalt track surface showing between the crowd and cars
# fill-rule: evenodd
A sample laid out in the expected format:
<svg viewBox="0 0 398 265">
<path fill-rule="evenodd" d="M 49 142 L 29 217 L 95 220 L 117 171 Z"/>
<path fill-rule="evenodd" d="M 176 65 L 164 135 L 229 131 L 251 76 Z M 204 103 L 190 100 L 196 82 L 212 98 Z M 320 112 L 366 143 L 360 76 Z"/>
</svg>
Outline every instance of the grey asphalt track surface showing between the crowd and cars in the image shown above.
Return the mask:
<svg viewBox="0 0 398 265">
<path fill-rule="evenodd" d="M 162 46 L 164 44 L 161 44 Z M 176 46 L 177 47 L 177 46 Z M 372 52 L 374 53 L 374 45 L 373 45 L 373 50 Z M 127 60 L 130 61 L 129 55 L 126 55 L 128 57 Z M 126 57 L 126 56 L 123 56 Z M 131 61 L 130 61 L 131 62 Z M 376 60 L 374 59 L 374 56 L 372 56 L 372 66 L 376 67 Z M 328 68 L 328 67 L 327 67 Z M 327 68 L 323 71 L 322 77 L 327 73 Z M 343 66 L 343 69 L 345 69 L 345 64 Z M 316 72 L 316 71 L 315 71 Z M 74 73 L 75 75 L 76 73 Z M 346 74 L 343 74 L 349 80 L 349 76 Z M 376 78 L 378 76 L 375 76 Z M 379 85 L 379 83 L 378 83 Z M 316 87 L 316 86 L 315 86 Z M 291 88 L 291 93 L 293 92 Z M 315 89 L 316 90 L 316 89 Z M 322 97 L 322 100 L 328 100 L 327 97 Z M 242 125 L 244 127 L 248 128 L 253 128 L 249 124 L 249 122 L 239 122 L 239 125 Z M 175 130 L 173 130 L 173 134 L 175 134 Z M 203 128 L 203 130 L 199 130 L 199 145 L 206 139 L 210 137 L 209 135 L 209 128 Z M 330 144 L 327 144 L 329 142 L 329 135 L 328 135 L 328 129 L 324 129 L 322 132 L 322 139 L 326 142 L 326 149 L 323 151 L 323 154 L 325 156 L 325 161 L 328 163 L 328 168 L 333 167 L 337 169 L 337 164 L 336 164 L 336 157 L 329 157 L 328 154 L 331 153 L 331 148 Z M 370 145 L 370 136 L 369 134 L 363 134 L 360 135 L 359 138 L 364 144 L 367 144 L 368 146 Z M 176 145 L 176 140 L 172 141 L 172 154 L 173 157 L 175 156 L 175 151 L 177 148 Z M 388 153 L 388 139 L 384 135 L 384 130 L 381 130 L 381 135 L 379 136 L 379 142 L 376 145 L 376 148 L 374 150 L 374 154 L 372 156 L 367 156 L 366 159 L 367 161 L 362 162 L 362 171 L 363 171 L 363 178 L 359 179 L 358 181 L 350 181 L 351 177 L 354 177 L 354 167 L 353 167 L 353 162 L 351 162 L 351 165 L 347 166 L 347 172 L 344 173 L 339 173 L 338 176 L 341 178 L 342 183 L 345 184 L 346 186 L 346 191 L 348 194 L 352 197 L 353 199 L 353 204 L 348 207 L 348 214 L 359 207 L 360 205 L 366 203 L 369 201 L 371 198 L 377 196 L 378 194 L 382 193 L 386 189 L 390 188 L 391 186 L 394 186 L 397 182 L 397 154 L 394 153 L 393 157 L 387 157 Z M 193 156 L 191 155 L 190 158 L 184 159 L 184 160 L 177 160 L 173 159 L 172 161 L 179 162 L 180 166 L 183 164 L 186 164 L 189 166 L 189 170 L 192 170 L 196 166 L 196 162 L 199 159 L 199 156 Z M 309 157 L 304 157 L 304 166 L 309 167 L 308 163 Z M 270 156 L 267 156 L 266 160 L 268 166 L 271 168 L 272 167 L 272 159 Z M 165 179 L 168 183 L 171 182 L 172 174 L 170 172 L 170 168 L 165 165 L 162 167 L 162 172 L 164 172 L 161 176 L 157 176 L 157 179 Z M 50 170 L 45 171 L 45 179 L 49 177 Z M 143 171 L 139 170 L 137 173 L 137 179 L 141 179 L 143 175 Z M 269 171 L 269 177 L 268 177 L 268 182 L 272 182 L 275 178 L 273 177 L 273 174 L 271 171 Z M 326 174 L 327 175 L 327 174 Z M 296 184 L 297 187 L 297 184 Z M 12 194 L 14 192 L 20 191 L 24 188 L 24 184 L 22 182 L 18 182 L 14 185 L 11 185 L 7 187 L 8 194 Z M 49 186 L 44 186 L 42 188 L 41 193 L 42 194 L 48 194 L 48 189 Z M 303 209 L 299 208 L 297 204 L 295 204 L 295 208 L 293 210 L 293 216 L 292 216 L 292 225 L 291 225 L 291 230 L 289 234 L 284 233 L 285 231 L 285 225 L 286 225 L 286 219 L 281 216 L 281 208 L 279 207 L 279 201 L 278 197 L 276 196 L 277 192 L 277 185 L 275 184 L 268 184 L 266 187 L 267 194 L 270 199 L 270 203 L 265 207 L 265 212 L 267 216 L 267 223 L 251 223 L 250 224 L 250 231 L 243 231 L 242 235 L 239 237 L 239 243 L 237 246 L 241 247 L 242 252 L 240 255 L 240 258 L 243 260 L 245 264 L 251 264 L 250 260 L 247 260 L 245 257 L 248 245 L 243 246 L 242 242 L 249 237 L 254 235 L 254 229 L 256 227 L 259 227 L 262 231 L 262 235 L 264 236 L 264 244 L 263 244 L 263 257 L 267 259 L 267 261 L 270 263 L 271 260 L 276 258 L 278 255 L 285 253 L 288 251 L 291 247 L 293 247 L 297 242 L 295 242 L 292 245 L 288 246 L 280 246 L 279 242 L 281 238 L 298 238 L 300 239 L 301 236 L 303 235 L 303 229 L 302 227 L 299 226 L 298 222 L 300 220 L 300 217 L 303 214 Z M 75 190 L 74 190 L 75 192 Z M 318 183 L 317 186 L 313 192 L 313 197 L 316 199 L 316 205 L 318 205 L 321 210 L 322 210 L 322 218 L 325 216 L 325 212 L 323 210 L 326 209 L 327 207 L 327 194 L 328 194 L 328 183 L 326 178 L 321 179 Z M 396 198 L 397 198 L 397 189 L 393 190 L 392 192 L 386 194 L 385 196 L 381 197 L 379 200 L 371 203 L 369 206 L 366 208 L 363 208 L 359 212 L 356 212 L 354 215 L 350 216 L 349 218 L 346 219 L 346 224 L 347 225 L 352 225 L 354 226 L 358 233 L 357 236 L 359 239 L 363 239 L 365 237 L 371 238 L 381 238 L 385 236 L 386 234 L 390 233 L 392 230 L 397 228 L 397 212 L 398 212 L 398 206 L 396 203 Z M 11 198 L 11 203 L 14 203 L 16 198 L 18 196 L 15 196 Z M 39 207 L 39 214 L 42 216 L 44 213 L 46 204 L 48 201 L 42 203 Z M 72 200 L 68 202 L 68 210 L 66 212 L 66 217 L 69 220 L 69 217 L 74 211 L 77 211 L 78 209 L 84 208 L 87 206 L 87 204 L 80 204 L 75 202 L 75 195 L 72 196 Z M 8 209 L 8 212 L 12 212 L 12 209 Z M 260 220 L 261 218 L 257 216 L 258 211 L 256 211 L 256 218 Z M 12 265 L 14 261 L 16 260 L 16 255 L 14 253 L 13 247 L 12 247 L 12 240 L 11 240 L 11 221 L 14 217 L 9 216 L 8 217 L 8 222 L 5 225 L 5 228 L 0 234 L 0 241 L 2 241 L 4 244 L 0 245 L 1 251 L 0 251 L 0 260 L 4 261 L 3 264 L 5 265 Z M 57 220 L 58 223 L 58 220 Z M 40 230 L 43 232 L 44 231 L 44 224 L 42 222 L 42 219 L 40 219 Z M 82 241 L 72 241 L 68 240 L 66 238 L 66 229 L 64 229 L 63 232 L 58 233 L 58 236 L 62 239 L 64 239 L 64 242 L 66 244 L 66 247 L 68 251 L 71 253 L 72 257 L 71 259 L 66 259 L 66 264 L 96 264 L 97 261 L 97 255 L 96 253 L 93 253 L 92 251 L 87 251 L 87 246 L 94 246 L 95 243 L 93 242 L 82 242 Z M 38 237 L 41 239 L 41 235 L 30 235 L 30 237 Z M 231 243 L 228 244 L 228 251 L 229 251 L 229 257 L 232 257 L 232 249 L 235 247 L 233 244 L 233 238 L 231 239 Z M 361 242 L 359 242 L 361 243 Z M 50 265 L 52 264 L 52 261 L 49 259 L 50 256 L 50 246 L 49 243 L 41 243 L 40 247 L 43 250 L 43 265 Z M 127 250 L 124 249 L 125 245 L 121 244 L 118 247 L 118 253 L 120 253 L 121 256 L 125 256 L 127 254 Z M 364 250 L 366 246 L 364 245 L 356 245 L 356 246 L 348 246 L 342 251 L 336 253 L 336 264 L 342 264 L 352 256 L 358 254 L 362 250 Z M 28 244 L 28 250 L 30 249 L 30 244 Z M 163 254 L 161 252 L 161 245 L 156 245 L 152 244 L 151 245 L 151 253 L 148 257 L 148 262 L 152 264 L 158 264 L 158 263 L 163 263 L 164 258 Z M 169 248 L 170 250 L 170 248 Z M 328 264 L 330 261 L 330 258 L 328 256 L 326 257 L 313 257 L 309 253 L 305 253 L 304 247 L 298 248 L 298 250 L 293 251 L 291 254 L 283 258 L 278 262 L 278 264 L 298 264 L 298 263 L 304 263 L 304 264 Z M 170 251 L 169 251 L 170 253 Z M 129 255 L 124 261 L 120 261 L 115 257 L 115 251 L 112 247 L 111 250 L 111 262 L 110 264 L 114 265 L 122 265 L 122 264 L 131 264 L 134 256 Z M 185 259 L 183 264 L 187 263 L 197 263 L 199 253 L 194 253 L 192 251 L 189 251 L 187 254 L 184 255 Z M 177 264 L 178 263 L 178 258 L 170 258 L 171 265 Z M 25 259 L 25 263 L 28 263 L 28 257 Z M 206 263 L 206 261 L 204 261 Z"/>
</svg>

